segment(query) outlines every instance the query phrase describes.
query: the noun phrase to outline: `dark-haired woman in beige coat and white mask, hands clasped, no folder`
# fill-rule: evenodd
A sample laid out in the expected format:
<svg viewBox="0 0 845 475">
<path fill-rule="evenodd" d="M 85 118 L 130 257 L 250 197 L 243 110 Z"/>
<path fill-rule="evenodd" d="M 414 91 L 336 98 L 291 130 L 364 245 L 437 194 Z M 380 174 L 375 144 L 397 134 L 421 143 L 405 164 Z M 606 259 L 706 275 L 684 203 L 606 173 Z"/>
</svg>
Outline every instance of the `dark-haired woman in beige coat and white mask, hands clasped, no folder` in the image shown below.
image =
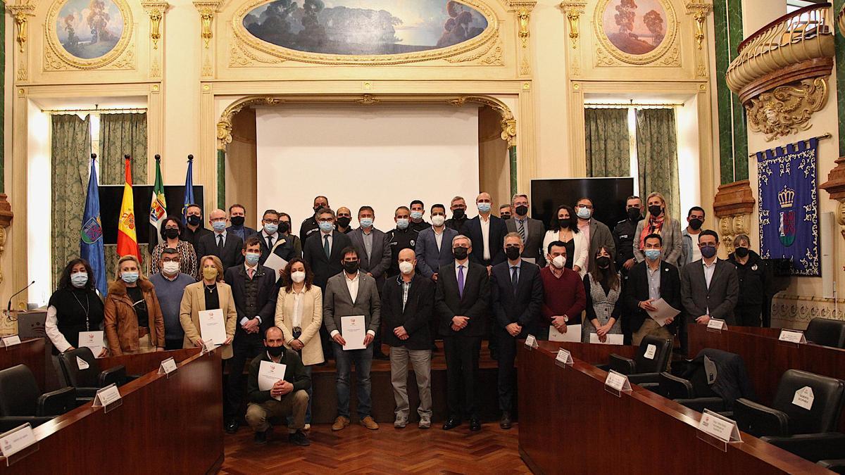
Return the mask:
<svg viewBox="0 0 845 475">
<path fill-rule="evenodd" d="M 323 291 L 313 285 L 313 274 L 303 259 L 294 258 L 282 272 L 285 287 L 279 291 L 275 305 L 275 326 L 285 336 L 285 347 L 296 350 L 303 359 L 305 372 L 311 376 L 314 364 L 323 363 L 323 344 L 319 327 L 323 325 Z M 305 427 L 311 426 L 311 395 L 308 388 L 308 409 Z"/>
</svg>

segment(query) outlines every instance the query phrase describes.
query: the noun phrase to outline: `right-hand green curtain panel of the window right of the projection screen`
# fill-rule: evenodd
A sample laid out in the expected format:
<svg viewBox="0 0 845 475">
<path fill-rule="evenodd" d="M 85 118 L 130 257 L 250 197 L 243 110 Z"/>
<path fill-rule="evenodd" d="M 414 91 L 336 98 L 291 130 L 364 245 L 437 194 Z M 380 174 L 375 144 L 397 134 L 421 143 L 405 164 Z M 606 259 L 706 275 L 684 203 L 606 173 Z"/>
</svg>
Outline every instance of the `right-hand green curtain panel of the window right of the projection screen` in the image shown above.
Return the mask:
<svg viewBox="0 0 845 475">
<path fill-rule="evenodd" d="M 662 193 L 673 217 L 680 216 L 676 135 L 674 109 L 636 110 L 640 194 Z"/>
</svg>

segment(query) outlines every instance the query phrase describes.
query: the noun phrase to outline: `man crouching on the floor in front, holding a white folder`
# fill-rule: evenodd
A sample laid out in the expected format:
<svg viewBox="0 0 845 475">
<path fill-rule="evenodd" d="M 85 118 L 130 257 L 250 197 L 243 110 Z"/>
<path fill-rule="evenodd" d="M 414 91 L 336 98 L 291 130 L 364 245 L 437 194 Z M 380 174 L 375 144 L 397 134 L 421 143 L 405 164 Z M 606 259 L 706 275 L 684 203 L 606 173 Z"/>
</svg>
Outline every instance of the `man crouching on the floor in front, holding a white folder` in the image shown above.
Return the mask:
<svg viewBox="0 0 845 475">
<path fill-rule="evenodd" d="M 285 336 L 277 326 L 264 332 L 264 352 L 249 364 L 247 423 L 255 431 L 255 443 L 264 445 L 273 428 L 269 418 L 292 418 L 287 440 L 311 445 L 303 433 L 311 377 L 297 352 L 285 348 Z"/>
</svg>

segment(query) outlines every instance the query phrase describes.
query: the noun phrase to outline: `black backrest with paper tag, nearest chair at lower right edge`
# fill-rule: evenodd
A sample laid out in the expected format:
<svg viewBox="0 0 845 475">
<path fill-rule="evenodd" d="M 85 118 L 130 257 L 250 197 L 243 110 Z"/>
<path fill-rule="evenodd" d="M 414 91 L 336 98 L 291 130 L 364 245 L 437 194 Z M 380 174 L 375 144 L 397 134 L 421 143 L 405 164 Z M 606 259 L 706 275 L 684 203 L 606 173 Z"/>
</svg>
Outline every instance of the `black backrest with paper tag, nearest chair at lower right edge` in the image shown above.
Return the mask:
<svg viewBox="0 0 845 475">
<path fill-rule="evenodd" d="M 793 403 L 796 393 L 805 387 L 813 391 L 810 409 Z M 842 379 L 788 369 L 781 376 L 771 407 L 786 412 L 789 417 L 789 434 L 817 434 L 836 430 L 842 413 L 843 397 L 845 381 Z"/>
</svg>

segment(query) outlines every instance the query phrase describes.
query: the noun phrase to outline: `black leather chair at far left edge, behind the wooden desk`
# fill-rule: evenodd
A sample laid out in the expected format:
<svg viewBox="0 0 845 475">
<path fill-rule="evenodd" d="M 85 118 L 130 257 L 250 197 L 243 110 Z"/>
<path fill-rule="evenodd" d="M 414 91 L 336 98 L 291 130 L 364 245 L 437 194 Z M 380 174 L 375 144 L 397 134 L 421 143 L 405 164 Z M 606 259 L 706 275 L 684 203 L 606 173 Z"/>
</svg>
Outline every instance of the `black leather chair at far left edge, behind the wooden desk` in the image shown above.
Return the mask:
<svg viewBox="0 0 845 475">
<path fill-rule="evenodd" d="M 23 364 L 0 371 L 0 432 L 30 423 L 33 427 L 76 407 L 70 386 L 41 394 L 35 376 Z"/>
</svg>

